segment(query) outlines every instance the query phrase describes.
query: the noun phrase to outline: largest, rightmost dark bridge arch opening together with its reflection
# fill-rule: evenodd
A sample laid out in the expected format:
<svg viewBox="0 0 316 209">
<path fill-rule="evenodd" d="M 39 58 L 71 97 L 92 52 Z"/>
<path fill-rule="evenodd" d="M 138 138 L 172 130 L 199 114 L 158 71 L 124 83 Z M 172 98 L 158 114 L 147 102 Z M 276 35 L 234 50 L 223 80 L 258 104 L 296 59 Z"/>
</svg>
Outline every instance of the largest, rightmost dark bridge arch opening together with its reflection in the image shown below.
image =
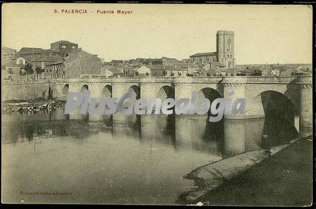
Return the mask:
<svg viewBox="0 0 316 209">
<path fill-rule="evenodd" d="M 260 105 L 264 113 L 263 147 L 289 143 L 298 136 L 298 108 L 278 91 L 263 91 L 254 98 L 252 106 Z"/>
</svg>

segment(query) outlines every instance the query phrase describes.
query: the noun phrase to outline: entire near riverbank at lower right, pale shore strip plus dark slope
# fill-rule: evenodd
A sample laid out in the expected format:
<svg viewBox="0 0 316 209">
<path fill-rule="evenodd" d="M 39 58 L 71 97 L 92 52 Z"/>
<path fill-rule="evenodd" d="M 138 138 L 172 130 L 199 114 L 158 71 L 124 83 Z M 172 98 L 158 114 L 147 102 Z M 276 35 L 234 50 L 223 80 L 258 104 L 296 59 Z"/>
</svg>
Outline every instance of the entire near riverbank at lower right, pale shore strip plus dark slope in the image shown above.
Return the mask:
<svg viewBox="0 0 316 209">
<path fill-rule="evenodd" d="M 312 203 L 312 138 L 252 151 L 195 169 L 186 176 L 198 189 L 178 204 L 308 206 Z"/>
</svg>

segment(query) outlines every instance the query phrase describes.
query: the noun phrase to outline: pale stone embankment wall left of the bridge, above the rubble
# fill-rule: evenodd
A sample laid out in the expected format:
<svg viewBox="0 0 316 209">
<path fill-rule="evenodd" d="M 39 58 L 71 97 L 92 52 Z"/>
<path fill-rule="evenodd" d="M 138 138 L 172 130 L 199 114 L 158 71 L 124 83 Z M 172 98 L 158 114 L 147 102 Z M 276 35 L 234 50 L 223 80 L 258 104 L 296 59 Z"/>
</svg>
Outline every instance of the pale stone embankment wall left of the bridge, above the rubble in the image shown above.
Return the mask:
<svg viewBox="0 0 316 209">
<path fill-rule="evenodd" d="M 50 83 L 42 81 L 2 84 L 1 101 L 48 98 L 49 88 Z"/>
</svg>

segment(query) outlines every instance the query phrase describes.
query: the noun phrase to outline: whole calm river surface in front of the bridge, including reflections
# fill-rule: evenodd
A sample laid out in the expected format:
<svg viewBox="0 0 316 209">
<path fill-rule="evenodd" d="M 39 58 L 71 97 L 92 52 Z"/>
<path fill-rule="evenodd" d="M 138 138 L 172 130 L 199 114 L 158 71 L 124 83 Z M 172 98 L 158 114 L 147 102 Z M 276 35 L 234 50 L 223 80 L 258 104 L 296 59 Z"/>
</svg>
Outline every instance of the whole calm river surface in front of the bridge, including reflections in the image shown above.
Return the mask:
<svg viewBox="0 0 316 209">
<path fill-rule="evenodd" d="M 281 117 L 207 121 L 207 115 L 64 115 L 63 108 L 4 113 L 2 201 L 176 204 L 195 188 L 183 178 L 195 168 L 298 134 Z"/>
</svg>

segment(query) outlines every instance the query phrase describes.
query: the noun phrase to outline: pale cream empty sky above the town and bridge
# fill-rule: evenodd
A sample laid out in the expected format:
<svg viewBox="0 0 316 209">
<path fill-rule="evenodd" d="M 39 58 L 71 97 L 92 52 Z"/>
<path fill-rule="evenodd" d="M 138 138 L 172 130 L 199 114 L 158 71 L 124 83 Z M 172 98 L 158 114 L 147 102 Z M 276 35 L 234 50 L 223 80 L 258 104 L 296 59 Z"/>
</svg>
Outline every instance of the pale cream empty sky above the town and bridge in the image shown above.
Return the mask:
<svg viewBox="0 0 316 209">
<path fill-rule="evenodd" d="M 62 9 L 88 14 L 65 14 Z M 133 12 L 122 15 L 117 10 Z M 216 52 L 216 31 L 227 30 L 235 32 L 237 65 L 312 63 L 308 5 L 4 3 L 1 14 L 1 45 L 16 50 L 49 49 L 50 43 L 68 40 L 105 61 L 181 60 Z"/>
</svg>

